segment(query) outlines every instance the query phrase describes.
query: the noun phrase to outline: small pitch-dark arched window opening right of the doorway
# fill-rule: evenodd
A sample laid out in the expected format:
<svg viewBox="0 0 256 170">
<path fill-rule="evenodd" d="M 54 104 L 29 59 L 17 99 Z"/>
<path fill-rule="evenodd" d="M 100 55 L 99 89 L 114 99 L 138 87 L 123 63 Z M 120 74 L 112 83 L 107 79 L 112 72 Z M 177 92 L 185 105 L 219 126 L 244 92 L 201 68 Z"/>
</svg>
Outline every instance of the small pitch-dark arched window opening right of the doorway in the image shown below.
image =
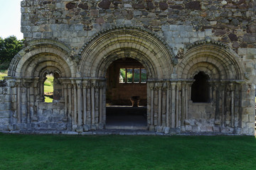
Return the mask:
<svg viewBox="0 0 256 170">
<path fill-rule="evenodd" d="M 191 86 L 191 100 L 193 102 L 207 103 L 210 101 L 209 77 L 204 72 L 199 72 L 193 77 L 195 81 Z"/>
</svg>

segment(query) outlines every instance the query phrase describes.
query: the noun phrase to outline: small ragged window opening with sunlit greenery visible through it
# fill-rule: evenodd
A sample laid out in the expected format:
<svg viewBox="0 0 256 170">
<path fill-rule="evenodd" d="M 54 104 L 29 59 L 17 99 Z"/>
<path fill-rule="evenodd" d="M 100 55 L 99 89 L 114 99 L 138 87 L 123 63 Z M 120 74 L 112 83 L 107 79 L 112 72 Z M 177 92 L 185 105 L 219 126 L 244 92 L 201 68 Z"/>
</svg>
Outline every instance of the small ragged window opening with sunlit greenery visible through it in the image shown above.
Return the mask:
<svg viewBox="0 0 256 170">
<path fill-rule="evenodd" d="M 46 103 L 59 101 L 62 96 L 62 86 L 58 78 L 60 78 L 58 73 L 50 72 L 46 74 L 43 82 L 43 96 Z"/>
</svg>

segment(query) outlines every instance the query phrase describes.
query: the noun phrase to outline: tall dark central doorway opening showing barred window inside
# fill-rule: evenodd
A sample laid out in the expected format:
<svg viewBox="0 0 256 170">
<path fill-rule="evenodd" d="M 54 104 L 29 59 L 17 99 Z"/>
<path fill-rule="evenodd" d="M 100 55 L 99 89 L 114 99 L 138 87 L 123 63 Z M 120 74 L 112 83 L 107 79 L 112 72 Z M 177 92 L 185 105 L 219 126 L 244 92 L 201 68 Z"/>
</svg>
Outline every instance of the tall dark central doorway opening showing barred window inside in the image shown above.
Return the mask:
<svg viewBox="0 0 256 170">
<path fill-rule="evenodd" d="M 106 128 L 146 129 L 146 69 L 132 58 L 112 62 L 106 74 Z"/>
</svg>

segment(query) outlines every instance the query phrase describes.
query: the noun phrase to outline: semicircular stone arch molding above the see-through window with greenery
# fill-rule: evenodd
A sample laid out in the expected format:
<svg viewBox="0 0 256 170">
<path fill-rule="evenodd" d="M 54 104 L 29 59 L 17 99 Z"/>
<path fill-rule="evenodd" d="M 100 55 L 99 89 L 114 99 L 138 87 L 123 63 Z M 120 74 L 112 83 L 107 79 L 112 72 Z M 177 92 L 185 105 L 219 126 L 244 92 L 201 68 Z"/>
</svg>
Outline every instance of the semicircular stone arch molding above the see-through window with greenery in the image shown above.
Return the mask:
<svg viewBox="0 0 256 170">
<path fill-rule="evenodd" d="M 77 64 L 72 50 L 56 40 L 32 40 L 11 60 L 8 75 L 11 77 L 35 77 L 40 67 L 57 67 L 65 77 L 75 77 Z"/>
</svg>

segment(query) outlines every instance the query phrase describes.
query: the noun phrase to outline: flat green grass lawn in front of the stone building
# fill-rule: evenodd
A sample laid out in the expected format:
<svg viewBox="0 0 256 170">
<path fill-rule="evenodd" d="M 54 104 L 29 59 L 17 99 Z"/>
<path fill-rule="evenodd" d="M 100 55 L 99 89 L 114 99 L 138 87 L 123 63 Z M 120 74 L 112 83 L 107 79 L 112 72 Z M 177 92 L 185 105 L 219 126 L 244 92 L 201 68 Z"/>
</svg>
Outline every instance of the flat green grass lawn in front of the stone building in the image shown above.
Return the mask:
<svg viewBox="0 0 256 170">
<path fill-rule="evenodd" d="M 0 169 L 256 169 L 247 136 L 0 134 Z"/>
</svg>

